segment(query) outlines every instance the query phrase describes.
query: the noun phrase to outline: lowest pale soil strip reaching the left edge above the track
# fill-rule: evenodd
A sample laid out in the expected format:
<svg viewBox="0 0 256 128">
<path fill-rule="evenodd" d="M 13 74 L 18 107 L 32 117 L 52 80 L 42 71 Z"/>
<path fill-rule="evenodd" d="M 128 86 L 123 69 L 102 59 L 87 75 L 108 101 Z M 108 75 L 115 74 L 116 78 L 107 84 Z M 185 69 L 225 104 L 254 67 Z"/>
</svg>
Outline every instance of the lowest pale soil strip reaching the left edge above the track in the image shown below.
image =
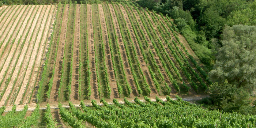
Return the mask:
<svg viewBox="0 0 256 128">
<path fill-rule="evenodd" d="M 39 7 L 39 6 L 38 6 Z M 38 8 L 38 7 L 35 7 L 33 6 L 30 11 L 29 11 L 29 14 L 26 16 L 26 19 L 24 20 L 24 23 L 21 27 L 22 30 L 24 31 L 19 31 L 19 34 L 18 36 L 16 37 L 15 39 L 15 42 L 14 42 L 14 45 L 18 45 L 17 46 L 17 50 L 14 52 L 14 55 L 13 56 L 8 56 L 7 60 L 5 61 L 5 64 L 4 64 L 4 71 L 2 70 L 1 74 L 0 74 L 0 78 L 3 79 L 3 84 L 1 85 L 1 88 L 0 88 L 0 92 L 3 92 L 4 90 L 4 87 L 5 86 L 8 86 L 8 85 L 5 85 L 4 86 L 4 83 L 5 81 L 7 80 L 7 78 L 11 77 L 12 75 L 12 69 L 15 68 L 15 65 L 19 59 L 19 55 L 21 55 L 20 57 L 22 57 L 22 54 L 25 54 L 25 51 L 26 51 L 26 46 L 24 47 L 24 50 L 22 50 L 22 45 L 23 45 L 23 42 L 25 41 L 25 36 L 26 36 L 26 33 L 28 33 L 29 31 L 29 28 L 31 27 L 32 25 L 32 17 L 35 16 L 35 11 L 33 12 L 33 10 L 35 10 L 35 8 Z M 32 15 L 32 16 L 31 16 Z M 31 16 L 31 18 L 30 18 Z M 28 25 L 28 26 L 27 26 Z M 32 30 L 31 30 L 32 31 Z M 21 37 L 22 36 L 22 37 Z M 20 40 L 20 41 L 19 41 Z M 22 54 L 20 54 L 22 52 Z M 12 59 L 13 58 L 13 59 Z M 8 63 L 11 63 L 10 64 L 10 67 L 8 68 Z M 8 70 L 8 71 L 7 71 Z M 4 72 L 7 72 L 6 73 L 6 76 L 5 76 L 5 79 L 4 79 Z"/>
</svg>

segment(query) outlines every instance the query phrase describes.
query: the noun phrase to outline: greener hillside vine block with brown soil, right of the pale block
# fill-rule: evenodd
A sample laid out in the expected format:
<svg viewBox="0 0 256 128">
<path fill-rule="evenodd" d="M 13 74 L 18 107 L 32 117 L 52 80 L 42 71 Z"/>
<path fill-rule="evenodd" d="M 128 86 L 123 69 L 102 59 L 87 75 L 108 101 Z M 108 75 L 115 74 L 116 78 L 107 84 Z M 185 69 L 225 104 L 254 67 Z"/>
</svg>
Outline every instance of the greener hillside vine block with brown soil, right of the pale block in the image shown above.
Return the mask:
<svg viewBox="0 0 256 128">
<path fill-rule="evenodd" d="M 56 13 L 39 82 L 39 102 L 195 94 L 210 83 L 180 42 L 169 17 L 128 1 L 59 4 Z M 74 47 L 77 31 L 78 48 Z M 79 62 L 73 60 L 76 51 Z M 76 63 L 78 74 L 72 73 Z M 71 85 L 72 80 L 79 81 L 78 87 Z M 76 98 L 71 97 L 73 93 Z"/>
</svg>

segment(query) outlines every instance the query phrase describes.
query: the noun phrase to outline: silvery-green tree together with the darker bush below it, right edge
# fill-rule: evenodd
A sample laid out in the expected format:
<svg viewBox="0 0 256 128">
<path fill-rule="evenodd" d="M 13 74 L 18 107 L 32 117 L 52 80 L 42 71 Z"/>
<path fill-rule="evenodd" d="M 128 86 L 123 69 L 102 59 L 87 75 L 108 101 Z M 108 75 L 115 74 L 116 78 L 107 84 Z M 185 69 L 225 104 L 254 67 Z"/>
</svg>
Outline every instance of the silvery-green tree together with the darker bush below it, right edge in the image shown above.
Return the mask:
<svg viewBox="0 0 256 128">
<path fill-rule="evenodd" d="M 249 94 L 256 89 L 256 27 L 225 26 L 216 64 L 209 73 L 209 92 L 218 108 L 227 112 L 254 113 Z"/>
</svg>

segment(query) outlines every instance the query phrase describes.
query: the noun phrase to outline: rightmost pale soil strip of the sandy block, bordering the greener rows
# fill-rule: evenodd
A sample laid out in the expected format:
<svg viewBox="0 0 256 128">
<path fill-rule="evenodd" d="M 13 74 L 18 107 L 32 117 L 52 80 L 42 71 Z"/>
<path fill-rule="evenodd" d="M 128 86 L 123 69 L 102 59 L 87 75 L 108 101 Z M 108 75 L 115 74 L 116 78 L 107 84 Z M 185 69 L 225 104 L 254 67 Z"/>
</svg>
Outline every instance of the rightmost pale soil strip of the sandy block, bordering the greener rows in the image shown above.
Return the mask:
<svg viewBox="0 0 256 128">
<path fill-rule="evenodd" d="M 40 53 L 37 57 L 37 60 L 35 61 L 35 68 L 34 68 L 34 73 L 32 74 L 31 78 L 30 78 L 30 87 L 28 87 L 28 91 L 26 91 L 26 94 L 24 96 L 25 98 L 25 101 L 23 100 L 23 103 L 24 104 L 28 104 L 30 103 L 30 98 L 31 98 L 31 93 L 33 92 L 34 95 L 36 95 L 36 91 L 34 89 L 36 82 L 38 80 L 38 75 L 39 75 L 39 68 L 41 67 L 42 64 L 44 64 L 44 56 L 46 54 L 46 52 L 48 52 L 47 50 L 47 46 L 49 46 L 49 43 L 50 43 L 50 38 L 51 38 L 51 35 L 52 35 L 52 31 L 53 31 L 53 24 L 54 24 L 54 20 L 56 19 L 56 13 L 57 13 L 57 5 L 53 5 L 53 7 L 51 8 L 51 11 L 49 13 L 49 18 L 48 18 L 48 21 L 47 21 L 47 24 L 46 24 L 46 29 L 45 29 L 45 32 L 44 32 L 44 35 L 42 37 L 42 42 L 45 42 L 46 44 L 41 44 L 41 47 L 44 47 L 43 49 L 43 52 Z M 32 100 L 33 101 L 33 100 Z"/>
</svg>

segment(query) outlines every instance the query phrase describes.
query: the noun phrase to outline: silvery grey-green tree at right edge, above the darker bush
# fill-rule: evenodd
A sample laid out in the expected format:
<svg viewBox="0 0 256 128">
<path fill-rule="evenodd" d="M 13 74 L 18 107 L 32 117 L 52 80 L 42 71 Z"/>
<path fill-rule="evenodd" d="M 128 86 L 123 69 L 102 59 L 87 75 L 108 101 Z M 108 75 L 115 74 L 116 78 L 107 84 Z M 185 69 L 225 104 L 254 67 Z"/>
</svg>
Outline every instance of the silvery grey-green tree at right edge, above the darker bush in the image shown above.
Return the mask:
<svg viewBox="0 0 256 128">
<path fill-rule="evenodd" d="M 227 80 L 237 88 L 252 92 L 256 88 L 256 27 L 225 26 L 216 63 L 209 72 L 212 82 Z"/>
</svg>

